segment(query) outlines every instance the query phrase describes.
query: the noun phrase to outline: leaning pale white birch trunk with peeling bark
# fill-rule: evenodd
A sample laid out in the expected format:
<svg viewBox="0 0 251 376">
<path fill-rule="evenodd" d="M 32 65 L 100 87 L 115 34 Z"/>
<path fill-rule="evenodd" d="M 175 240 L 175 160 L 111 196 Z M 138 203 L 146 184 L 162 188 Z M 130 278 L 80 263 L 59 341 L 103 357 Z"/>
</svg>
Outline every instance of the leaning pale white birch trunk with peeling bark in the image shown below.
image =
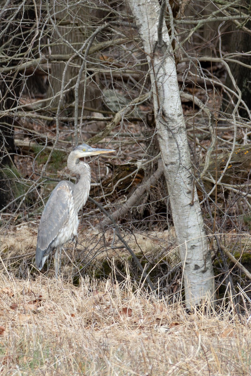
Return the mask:
<svg viewBox="0 0 251 376">
<path fill-rule="evenodd" d="M 128 0 L 148 58 L 153 88 L 156 130 L 169 192 L 173 224 L 184 268 L 186 306 L 214 301 L 210 250 L 198 196 L 181 107 L 172 45 L 167 27 L 161 27 L 157 0 Z"/>
</svg>

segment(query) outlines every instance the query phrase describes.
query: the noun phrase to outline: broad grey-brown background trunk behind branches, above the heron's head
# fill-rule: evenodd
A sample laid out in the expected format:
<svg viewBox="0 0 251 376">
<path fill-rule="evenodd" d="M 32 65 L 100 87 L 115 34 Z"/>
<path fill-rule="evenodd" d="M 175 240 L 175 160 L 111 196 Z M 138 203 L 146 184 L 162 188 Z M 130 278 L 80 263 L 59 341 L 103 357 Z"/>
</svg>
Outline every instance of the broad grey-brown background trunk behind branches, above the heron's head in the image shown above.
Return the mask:
<svg viewBox="0 0 251 376">
<path fill-rule="evenodd" d="M 54 0 L 50 2 L 50 16 L 56 28 L 52 26 L 52 36 L 50 48 L 52 55 L 73 55 L 74 49 L 79 50 L 88 36 L 92 28 L 90 27 L 91 17 L 88 14 L 88 10 L 83 5 L 63 4 L 59 2 L 59 5 L 55 6 Z M 60 34 L 60 36 L 59 36 Z M 66 42 L 65 42 L 66 41 Z M 74 116 L 74 109 L 70 107 L 75 100 L 78 101 L 78 105 L 97 109 L 100 106 L 100 90 L 99 86 L 95 82 L 95 77 L 88 79 L 88 74 L 91 72 L 90 64 L 84 68 L 82 76 L 85 77 L 85 82 L 81 82 L 78 89 L 78 99 L 75 96 L 75 85 L 78 80 L 79 71 L 83 60 L 80 57 L 75 58 L 68 64 L 65 71 L 65 62 L 51 62 L 51 70 L 49 77 L 49 89 L 47 92 L 47 98 L 49 99 L 50 108 L 58 106 L 60 99 L 60 92 L 62 88 L 62 80 L 64 80 L 64 90 L 67 89 L 61 100 L 61 106 L 65 109 L 65 114 Z M 81 77 L 81 80 L 83 78 Z M 62 110 L 63 114 L 63 110 Z M 85 115 L 91 113 L 85 111 Z M 78 116 L 81 115 L 81 108 L 79 108 Z"/>
</svg>

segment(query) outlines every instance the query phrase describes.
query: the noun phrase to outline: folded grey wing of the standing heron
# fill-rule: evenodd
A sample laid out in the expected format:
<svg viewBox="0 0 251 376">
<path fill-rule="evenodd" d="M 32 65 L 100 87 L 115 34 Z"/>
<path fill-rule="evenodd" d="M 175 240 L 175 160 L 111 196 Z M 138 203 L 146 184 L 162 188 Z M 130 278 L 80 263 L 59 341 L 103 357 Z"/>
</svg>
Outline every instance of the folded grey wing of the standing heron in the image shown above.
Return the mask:
<svg viewBox="0 0 251 376">
<path fill-rule="evenodd" d="M 63 181 L 52 191 L 38 227 L 37 252 L 38 249 L 45 252 L 65 225 L 69 209 L 74 205 L 73 186 L 72 183 Z"/>
</svg>

